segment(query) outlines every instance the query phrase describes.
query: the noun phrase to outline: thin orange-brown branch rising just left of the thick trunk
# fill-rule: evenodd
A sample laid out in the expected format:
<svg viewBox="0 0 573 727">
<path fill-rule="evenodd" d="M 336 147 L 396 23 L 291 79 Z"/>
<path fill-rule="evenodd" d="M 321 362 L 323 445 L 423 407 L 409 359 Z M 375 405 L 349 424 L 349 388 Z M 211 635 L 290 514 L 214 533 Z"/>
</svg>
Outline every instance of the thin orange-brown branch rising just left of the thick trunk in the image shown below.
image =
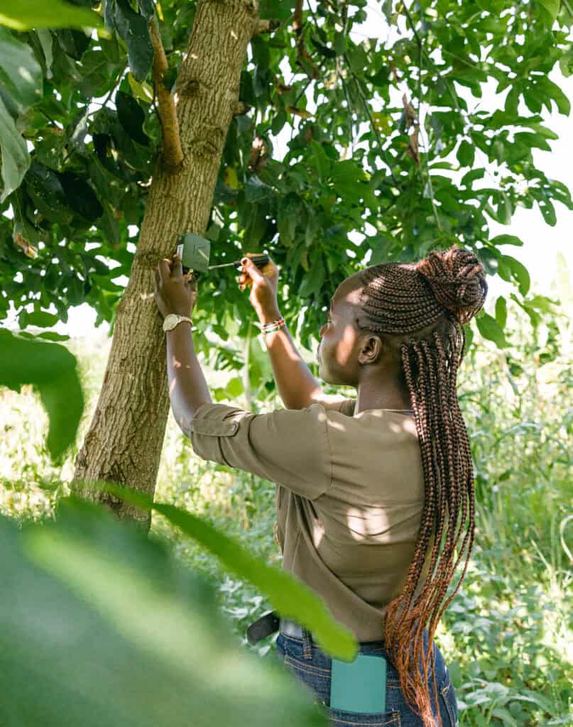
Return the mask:
<svg viewBox="0 0 573 727">
<path fill-rule="evenodd" d="M 183 149 L 181 148 L 175 101 L 171 92 L 163 84 L 163 77 L 168 66 L 156 16 L 153 16 L 149 24 L 149 34 L 155 52 L 153 55 L 153 81 L 157 95 L 159 119 L 163 127 L 163 160 L 167 171 L 175 174 L 183 163 Z"/>
</svg>

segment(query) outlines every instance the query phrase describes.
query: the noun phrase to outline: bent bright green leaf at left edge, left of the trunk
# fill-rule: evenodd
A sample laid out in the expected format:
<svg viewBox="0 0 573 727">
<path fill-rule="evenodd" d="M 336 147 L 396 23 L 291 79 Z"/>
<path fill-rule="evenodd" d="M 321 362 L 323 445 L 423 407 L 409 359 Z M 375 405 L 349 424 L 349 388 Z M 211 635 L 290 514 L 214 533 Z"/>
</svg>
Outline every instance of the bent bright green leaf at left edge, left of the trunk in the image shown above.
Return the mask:
<svg viewBox="0 0 573 727">
<path fill-rule="evenodd" d="M 76 358 L 57 343 L 23 339 L 7 329 L 0 329 L 0 350 L 0 385 L 19 392 L 31 384 L 39 392 L 49 417 L 47 447 L 59 461 L 75 441 L 84 411 Z"/>
</svg>

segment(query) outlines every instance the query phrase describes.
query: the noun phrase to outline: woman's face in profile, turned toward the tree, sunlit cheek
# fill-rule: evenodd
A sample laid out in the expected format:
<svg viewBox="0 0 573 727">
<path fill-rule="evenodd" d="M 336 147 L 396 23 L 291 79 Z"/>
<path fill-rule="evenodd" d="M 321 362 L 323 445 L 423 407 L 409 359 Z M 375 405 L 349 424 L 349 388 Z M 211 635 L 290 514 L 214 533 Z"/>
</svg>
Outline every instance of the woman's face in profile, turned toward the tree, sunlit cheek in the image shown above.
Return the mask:
<svg viewBox="0 0 573 727">
<path fill-rule="evenodd" d="M 329 384 L 358 385 L 361 336 L 356 328 L 356 306 L 360 291 L 356 278 L 346 278 L 334 293 L 326 323 L 318 333 L 318 374 Z"/>
</svg>

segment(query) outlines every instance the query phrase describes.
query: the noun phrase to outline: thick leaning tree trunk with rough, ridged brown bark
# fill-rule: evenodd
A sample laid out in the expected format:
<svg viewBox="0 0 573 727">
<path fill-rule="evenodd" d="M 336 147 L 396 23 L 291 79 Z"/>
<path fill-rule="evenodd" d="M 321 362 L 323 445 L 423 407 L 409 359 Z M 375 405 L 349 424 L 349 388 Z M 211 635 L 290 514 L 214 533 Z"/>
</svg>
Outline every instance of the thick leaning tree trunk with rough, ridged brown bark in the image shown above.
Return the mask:
<svg viewBox="0 0 573 727">
<path fill-rule="evenodd" d="M 76 459 L 77 491 L 146 528 L 148 515 L 92 483 L 113 481 L 153 495 L 169 413 L 166 342 L 153 297 L 153 269 L 175 252 L 181 233 L 202 234 L 207 228 L 257 12 L 252 0 L 197 3 L 175 96 L 183 164 L 175 173 L 161 158 L 156 164 L 100 398 Z"/>
</svg>

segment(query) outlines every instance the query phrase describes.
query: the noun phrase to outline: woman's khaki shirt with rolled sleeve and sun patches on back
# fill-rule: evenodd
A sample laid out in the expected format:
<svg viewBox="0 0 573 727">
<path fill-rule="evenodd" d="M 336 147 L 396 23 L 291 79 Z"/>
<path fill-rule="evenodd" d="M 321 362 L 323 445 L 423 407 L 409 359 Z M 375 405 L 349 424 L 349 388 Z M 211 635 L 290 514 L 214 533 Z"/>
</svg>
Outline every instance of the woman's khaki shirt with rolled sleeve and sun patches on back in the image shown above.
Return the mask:
<svg viewBox="0 0 573 727">
<path fill-rule="evenodd" d="M 253 414 L 206 403 L 190 437 L 199 457 L 276 483 L 283 568 L 358 641 L 376 641 L 385 605 L 406 582 L 424 479 L 413 417 L 394 409 L 353 415 L 354 406 L 346 399 Z"/>
</svg>

